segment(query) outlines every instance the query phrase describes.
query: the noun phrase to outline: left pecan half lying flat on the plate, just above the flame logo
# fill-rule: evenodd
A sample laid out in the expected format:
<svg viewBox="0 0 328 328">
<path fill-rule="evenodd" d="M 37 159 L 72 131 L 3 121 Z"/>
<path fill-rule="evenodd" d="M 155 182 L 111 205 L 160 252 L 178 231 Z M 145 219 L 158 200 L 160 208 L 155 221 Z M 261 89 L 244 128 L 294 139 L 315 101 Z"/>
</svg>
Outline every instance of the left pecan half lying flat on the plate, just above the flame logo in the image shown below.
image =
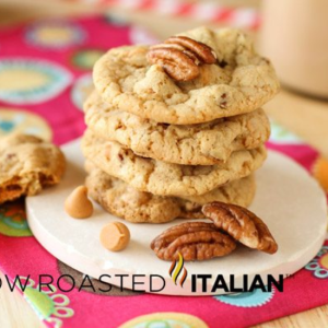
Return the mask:
<svg viewBox="0 0 328 328">
<path fill-rule="evenodd" d="M 163 232 L 151 248 L 163 260 L 178 259 L 180 253 L 185 261 L 194 261 L 225 256 L 236 248 L 236 243 L 212 223 L 186 222 Z"/>
</svg>

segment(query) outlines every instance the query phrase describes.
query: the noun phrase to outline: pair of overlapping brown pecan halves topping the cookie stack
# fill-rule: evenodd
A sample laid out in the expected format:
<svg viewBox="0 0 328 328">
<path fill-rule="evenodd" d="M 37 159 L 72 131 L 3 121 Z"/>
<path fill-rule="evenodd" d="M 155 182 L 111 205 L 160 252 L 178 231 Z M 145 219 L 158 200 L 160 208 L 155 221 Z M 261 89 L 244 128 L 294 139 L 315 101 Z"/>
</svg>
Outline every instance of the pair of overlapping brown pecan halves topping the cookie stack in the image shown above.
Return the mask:
<svg viewBox="0 0 328 328">
<path fill-rule="evenodd" d="M 163 67 L 176 81 L 190 81 L 200 74 L 199 66 L 215 63 L 216 54 L 208 45 L 187 36 L 172 36 L 152 46 L 147 54 L 150 63 Z"/>
</svg>

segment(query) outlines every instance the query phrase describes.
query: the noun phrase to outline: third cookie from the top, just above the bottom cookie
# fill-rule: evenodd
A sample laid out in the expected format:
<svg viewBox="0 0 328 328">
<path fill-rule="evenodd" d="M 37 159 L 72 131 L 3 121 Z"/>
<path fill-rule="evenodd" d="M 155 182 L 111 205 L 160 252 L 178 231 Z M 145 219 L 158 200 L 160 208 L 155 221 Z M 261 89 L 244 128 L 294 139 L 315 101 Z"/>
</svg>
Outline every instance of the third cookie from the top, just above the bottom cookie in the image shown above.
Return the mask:
<svg viewBox="0 0 328 328">
<path fill-rule="evenodd" d="M 234 152 L 226 163 L 211 166 L 168 164 L 136 155 L 119 143 L 96 138 L 86 131 L 84 156 L 107 174 L 140 191 L 161 196 L 196 196 L 231 180 L 248 176 L 266 160 L 265 147 Z"/>
</svg>

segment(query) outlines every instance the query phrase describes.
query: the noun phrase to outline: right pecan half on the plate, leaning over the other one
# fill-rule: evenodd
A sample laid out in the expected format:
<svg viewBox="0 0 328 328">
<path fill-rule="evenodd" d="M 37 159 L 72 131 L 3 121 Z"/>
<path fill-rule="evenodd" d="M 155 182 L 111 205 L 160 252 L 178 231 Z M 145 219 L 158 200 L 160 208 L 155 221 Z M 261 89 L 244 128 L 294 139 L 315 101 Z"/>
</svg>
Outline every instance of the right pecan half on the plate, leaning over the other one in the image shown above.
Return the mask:
<svg viewBox="0 0 328 328">
<path fill-rule="evenodd" d="M 278 245 L 268 226 L 245 208 L 215 201 L 204 204 L 202 213 L 211 219 L 218 229 L 249 248 L 269 254 L 278 250 Z"/>
</svg>

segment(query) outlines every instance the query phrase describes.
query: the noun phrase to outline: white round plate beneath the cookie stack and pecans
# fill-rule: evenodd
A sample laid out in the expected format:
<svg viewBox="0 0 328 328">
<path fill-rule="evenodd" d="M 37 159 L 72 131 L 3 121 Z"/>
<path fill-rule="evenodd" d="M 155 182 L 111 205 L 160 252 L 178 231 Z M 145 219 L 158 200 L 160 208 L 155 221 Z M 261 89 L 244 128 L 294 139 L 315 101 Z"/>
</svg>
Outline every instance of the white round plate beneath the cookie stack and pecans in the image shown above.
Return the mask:
<svg viewBox="0 0 328 328">
<path fill-rule="evenodd" d="M 203 295 L 199 288 L 196 293 L 191 292 L 190 277 L 206 273 L 212 274 L 207 291 L 207 294 L 211 294 L 218 274 L 223 274 L 227 283 L 230 274 L 234 274 L 237 285 L 245 274 L 249 281 L 255 274 L 260 274 L 263 281 L 267 281 L 268 274 L 276 278 L 279 274 L 292 274 L 317 254 L 325 239 L 327 207 L 324 192 L 298 164 L 269 151 L 266 164 L 256 173 L 257 194 L 250 210 L 268 224 L 279 245 L 278 253 L 268 255 L 238 246 L 224 258 L 185 262 L 188 276 L 181 288 L 178 283 L 181 277 L 175 284 L 168 273 L 171 262 L 160 260 L 151 250 L 150 243 L 167 227 L 185 220 L 165 224 L 125 222 L 131 232 L 129 246 L 119 253 L 106 250 L 99 243 L 99 232 L 106 223 L 120 219 L 108 214 L 97 204 L 94 215 L 87 220 L 74 220 L 65 212 L 66 198 L 73 188 L 83 185 L 85 173 L 80 141 L 69 143 L 62 150 L 68 161 L 63 180 L 26 200 L 30 227 L 38 242 L 59 260 L 94 278 L 109 274 L 110 283 L 115 285 L 120 285 L 121 279 L 115 274 L 144 274 L 134 278 L 134 281 L 144 283 L 136 288 L 150 291 L 150 276 L 160 274 L 166 283 L 161 292 L 163 294 Z M 131 276 L 122 281 L 125 288 L 132 288 Z M 163 285 L 160 278 L 152 281 L 153 289 Z M 224 292 L 221 290 L 220 293 Z"/>
</svg>

